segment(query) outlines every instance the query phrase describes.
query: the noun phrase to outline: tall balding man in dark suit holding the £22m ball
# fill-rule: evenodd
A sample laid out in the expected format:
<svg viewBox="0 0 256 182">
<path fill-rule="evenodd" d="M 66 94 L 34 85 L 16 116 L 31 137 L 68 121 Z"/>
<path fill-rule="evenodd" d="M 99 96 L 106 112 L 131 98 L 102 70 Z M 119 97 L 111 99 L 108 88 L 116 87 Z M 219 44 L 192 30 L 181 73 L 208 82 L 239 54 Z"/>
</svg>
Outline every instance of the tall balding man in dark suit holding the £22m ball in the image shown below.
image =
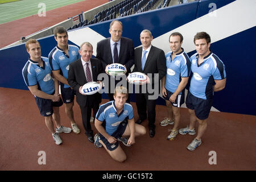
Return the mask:
<svg viewBox="0 0 256 182">
<path fill-rule="evenodd" d="M 105 69 L 109 64 L 119 63 L 125 65 L 126 76 L 131 72 L 131 67 L 134 64 L 134 46 L 133 40 L 122 37 L 123 25 L 118 20 L 113 20 L 110 23 L 109 34 L 110 38 L 101 40 L 97 43 L 97 59 L 101 60 L 102 68 Z M 107 72 L 106 72 L 107 73 Z M 107 73 L 108 74 L 108 73 Z M 113 101 L 114 88 L 110 88 L 109 76 L 109 100 Z M 112 81 L 113 77 L 112 77 Z M 126 80 L 125 80 L 126 81 Z M 119 81 L 115 81 L 117 85 Z M 127 82 L 126 82 L 127 83 Z M 121 85 L 119 85 L 121 86 Z M 123 85 L 128 88 L 128 85 Z M 129 97 L 127 102 L 129 102 Z"/>
</svg>

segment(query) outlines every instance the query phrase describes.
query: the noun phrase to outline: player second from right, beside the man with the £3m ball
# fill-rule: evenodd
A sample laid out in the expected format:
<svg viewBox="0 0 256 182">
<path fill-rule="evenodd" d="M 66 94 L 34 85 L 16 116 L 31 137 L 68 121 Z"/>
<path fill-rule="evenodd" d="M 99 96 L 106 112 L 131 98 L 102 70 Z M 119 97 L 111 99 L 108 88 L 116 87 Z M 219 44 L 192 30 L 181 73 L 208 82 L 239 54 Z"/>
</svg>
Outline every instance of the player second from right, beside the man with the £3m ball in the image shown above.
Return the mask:
<svg viewBox="0 0 256 182">
<path fill-rule="evenodd" d="M 179 32 L 174 32 L 169 37 L 171 51 L 166 53 L 167 74 L 162 79 L 162 94 L 166 100 L 168 118 L 160 122 L 161 126 L 173 125 L 168 140 L 174 140 L 178 133 L 180 122 L 180 107 L 184 103 L 185 86 L 188 83 L 191 62 L 181 48 L 183 36 Z M 171 119 L 174 116 L 174 121 Z"/>
</svg>

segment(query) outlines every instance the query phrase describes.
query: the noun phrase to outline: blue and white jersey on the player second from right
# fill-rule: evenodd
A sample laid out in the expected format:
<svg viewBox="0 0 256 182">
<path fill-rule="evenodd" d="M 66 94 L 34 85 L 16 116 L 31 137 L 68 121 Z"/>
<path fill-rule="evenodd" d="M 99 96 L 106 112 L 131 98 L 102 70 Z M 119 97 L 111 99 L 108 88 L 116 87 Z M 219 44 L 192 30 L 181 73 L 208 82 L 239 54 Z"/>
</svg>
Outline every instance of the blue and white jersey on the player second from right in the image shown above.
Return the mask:
<svg viewBox="0 0 256 182">
<path fill-rule="evenodd" d="M 189 77 L 191 61 L 184 49 L 171 60 L 172 51 L 166 53 L 166 84 L 165 88 L 174 93 L 180 84 L 181 77 Z M 180 92 L 179 94 L 181 94 Z"/>
</svg>

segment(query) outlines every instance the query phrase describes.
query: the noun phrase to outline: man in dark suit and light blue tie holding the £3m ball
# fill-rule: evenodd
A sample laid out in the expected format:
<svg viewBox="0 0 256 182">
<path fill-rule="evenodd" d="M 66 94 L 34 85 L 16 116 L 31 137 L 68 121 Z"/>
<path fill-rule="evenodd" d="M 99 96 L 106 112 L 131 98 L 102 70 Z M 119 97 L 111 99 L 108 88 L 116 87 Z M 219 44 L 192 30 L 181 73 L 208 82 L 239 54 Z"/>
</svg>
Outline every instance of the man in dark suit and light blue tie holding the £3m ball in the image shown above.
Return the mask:
<svg viewBox="0 0 256 182">
<path fill-rule="evenodd" d="M 166 75 L 166 57 L 162 49 L 151 45 L 153 36 L 149 30 L 143 30 L 140 39 L 142 47 L 136 48 L 134 51 L 135 67 L 133 72 L 145 73 L 148 79 L 146 85 L 139 86 L 139 90 L 135 87 L 136 105 L 139 114 L 136 123 L 141 124 L 148 117 L 149 134 L 150 137 L 154 137 L 156 99 L 160 93 L 159 80 Z M 151 73 L 152 76 L 148 73 Z M 142 91 L 143 86 L 146 88 L 146 93 Z M 154 92 L 151 92 L 149 88 L 152 88 Z"/>
</svg>

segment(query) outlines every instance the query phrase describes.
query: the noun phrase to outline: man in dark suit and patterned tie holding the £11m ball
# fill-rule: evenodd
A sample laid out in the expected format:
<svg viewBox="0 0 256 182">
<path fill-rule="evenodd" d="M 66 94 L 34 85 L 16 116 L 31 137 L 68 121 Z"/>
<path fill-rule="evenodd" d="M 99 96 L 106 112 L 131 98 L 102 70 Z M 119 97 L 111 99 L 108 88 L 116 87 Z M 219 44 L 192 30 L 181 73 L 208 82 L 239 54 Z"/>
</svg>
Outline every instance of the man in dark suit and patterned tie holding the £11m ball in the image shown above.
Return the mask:
<svg viewBox="0 0 256 182">
<path fill-rule="evenodd" d="M 93 109 L 93 115 L 98 111 L 101 102 L 101 94 L 85 95 L 81 92 L 84 84 L 91 81 L 97 81 L 97 77 L 103 72 L 101 61 L 91 58 L 93 54 L 92 44 L 82 43 L 79 53 L 81 58 L 69 64 L 68 84 L 76 90 L 76 101 L 79 104 L 82 114 L 82 124 L 85 134 L 90 142 L 94 142 L 93 130 L 90 126 L 90 115 Z"/>
</svg>

